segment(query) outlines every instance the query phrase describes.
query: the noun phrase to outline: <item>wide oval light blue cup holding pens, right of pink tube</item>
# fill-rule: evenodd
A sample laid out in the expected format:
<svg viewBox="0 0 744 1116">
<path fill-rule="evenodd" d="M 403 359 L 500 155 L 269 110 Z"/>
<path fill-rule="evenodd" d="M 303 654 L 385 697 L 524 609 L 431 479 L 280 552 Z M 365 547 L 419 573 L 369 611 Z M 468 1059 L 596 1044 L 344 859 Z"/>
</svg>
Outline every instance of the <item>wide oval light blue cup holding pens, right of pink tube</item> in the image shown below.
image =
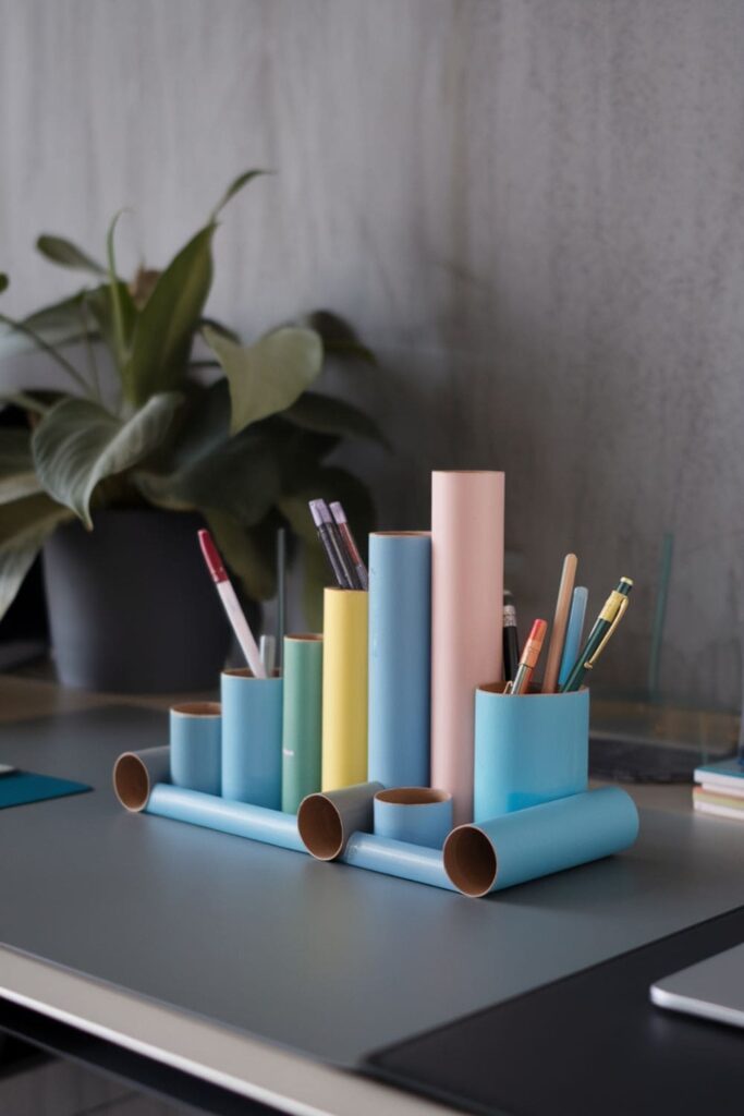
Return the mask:
<svg viewBox="0 0 744 1116">
<path fill-rule="evenodd" d="M 473 820 L 481 822 L 587 789 L 589 691 L 475 691 Z"/>
</svg>

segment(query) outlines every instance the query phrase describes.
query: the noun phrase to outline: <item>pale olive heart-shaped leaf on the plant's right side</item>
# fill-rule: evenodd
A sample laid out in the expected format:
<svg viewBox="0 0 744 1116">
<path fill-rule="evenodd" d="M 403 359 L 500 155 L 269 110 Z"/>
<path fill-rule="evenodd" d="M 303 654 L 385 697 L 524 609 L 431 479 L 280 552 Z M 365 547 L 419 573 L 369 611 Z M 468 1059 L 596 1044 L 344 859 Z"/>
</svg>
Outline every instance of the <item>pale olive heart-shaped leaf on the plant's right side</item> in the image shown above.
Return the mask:
<svg viewBox="0 0 744 1116">
<path fill-rule="evenodd" d="M 209 328 L 204 338 L 228 377 L 233 433 L 291 406 L 322 368 L 322 343 L 311 329 L 288 326 L 250 346 Z"/>
</svg>

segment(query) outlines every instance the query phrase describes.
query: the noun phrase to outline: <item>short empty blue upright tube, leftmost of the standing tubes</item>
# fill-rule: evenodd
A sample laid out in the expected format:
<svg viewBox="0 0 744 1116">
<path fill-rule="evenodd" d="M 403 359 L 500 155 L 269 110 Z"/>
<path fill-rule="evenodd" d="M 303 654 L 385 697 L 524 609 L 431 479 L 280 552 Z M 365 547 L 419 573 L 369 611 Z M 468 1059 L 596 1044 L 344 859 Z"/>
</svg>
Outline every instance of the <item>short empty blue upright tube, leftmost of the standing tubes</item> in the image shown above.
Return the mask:
<svg viewBox="0 0 744 1116">
<path fill-rule="evenodd" d="M 171 782 L 205 795 L 222 786 L 222 718 L 213 701 L 171 709 Z"/>
</svg>

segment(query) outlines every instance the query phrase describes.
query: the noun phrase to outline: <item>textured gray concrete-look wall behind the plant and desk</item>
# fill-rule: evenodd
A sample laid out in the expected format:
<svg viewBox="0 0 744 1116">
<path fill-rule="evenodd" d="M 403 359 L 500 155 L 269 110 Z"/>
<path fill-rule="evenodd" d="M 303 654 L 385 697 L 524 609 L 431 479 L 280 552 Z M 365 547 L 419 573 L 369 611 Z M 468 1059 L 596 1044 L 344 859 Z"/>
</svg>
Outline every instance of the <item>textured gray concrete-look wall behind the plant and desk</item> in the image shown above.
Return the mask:
<svg viewBox="0 0 744 1116">
<path fill-rule="evenodd" d="M 637 579 L 605 681 L 735 703 L 744 622 L 744 7 L 738 0 L 0 0 L 1 264 L 16 311 L 131 205 L 161 263 L 248 165 L 212 309 L 251 336 L 327 305 L 383 358 L 330 384 L 396 448 L 388 526 L 433 466 L 508 473 L 512 585 L 593 610 Z"/>
</svg>

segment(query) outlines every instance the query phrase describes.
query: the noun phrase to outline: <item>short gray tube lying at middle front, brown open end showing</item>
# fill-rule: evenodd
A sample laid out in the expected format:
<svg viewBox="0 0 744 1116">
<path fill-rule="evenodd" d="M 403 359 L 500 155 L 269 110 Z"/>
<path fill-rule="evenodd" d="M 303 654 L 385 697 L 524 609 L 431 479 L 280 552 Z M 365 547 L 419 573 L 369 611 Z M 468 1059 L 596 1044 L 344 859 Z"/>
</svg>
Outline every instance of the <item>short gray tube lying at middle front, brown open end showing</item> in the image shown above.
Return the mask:
<svg viewBox="0 0 744 1116">
<path fill-rule="evenodd" d="M 297 814 L 297 827 L 308 853 L 318 860 L 335 860 L 352 833 L 371 833 L 373 804 L 379 790 L 379 782 L 363 782 L 308 795 Z"/>
</svg>

